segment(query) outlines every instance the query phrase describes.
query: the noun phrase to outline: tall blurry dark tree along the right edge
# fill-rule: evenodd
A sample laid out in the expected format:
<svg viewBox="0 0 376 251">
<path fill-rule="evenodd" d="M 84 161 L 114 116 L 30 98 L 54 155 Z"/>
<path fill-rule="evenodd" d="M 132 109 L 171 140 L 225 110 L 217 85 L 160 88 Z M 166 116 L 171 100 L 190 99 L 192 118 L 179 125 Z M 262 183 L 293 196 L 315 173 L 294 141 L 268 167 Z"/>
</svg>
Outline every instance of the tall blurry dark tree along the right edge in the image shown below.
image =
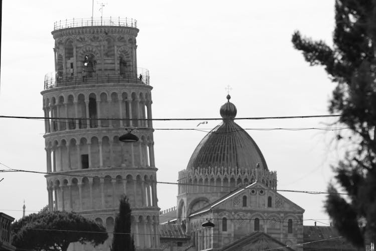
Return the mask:
<svg viewBox="0 0 376 251">
<path fill-rule="evenodd" d="M 349 149 L 334 168 L 348 194 L 329 185 L 325 209 L 338 231 L 353 245 L 364 247 L 376 237 L 376 0 L 336 0 L 333 47 L 324 41 L 292 35 L 292 43 L 310 65 L 322 65 L 336 87 L 329 103 L 338 122 L 350 130 Z"/>
</svg>

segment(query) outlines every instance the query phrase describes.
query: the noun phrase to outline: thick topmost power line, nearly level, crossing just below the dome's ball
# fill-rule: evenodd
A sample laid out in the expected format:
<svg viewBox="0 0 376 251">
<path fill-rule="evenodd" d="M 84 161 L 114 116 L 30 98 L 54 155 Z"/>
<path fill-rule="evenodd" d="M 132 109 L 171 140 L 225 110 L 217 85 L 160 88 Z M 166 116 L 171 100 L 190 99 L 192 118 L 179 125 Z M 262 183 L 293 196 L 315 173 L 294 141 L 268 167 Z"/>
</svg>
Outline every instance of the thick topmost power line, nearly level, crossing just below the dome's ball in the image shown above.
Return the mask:
<svg viewBox="0 0 376 251">
<path fill-rule="evenodd" d="M 286 118 L 314 118 L 314 117 L 338 117 L 340 114 L 328 115 L 303 115 L 303 116 L 269 116 L 269 117 L 235 117 L 234 120 L 261 120 L 261 119 L 286 119 Z M 71 119 L 71 120 L 141 120 L 141 121 L 180 121 L 180 120 L 223 120 L 222 117 L 215 118 L 82 118 L 82 117 L 36 117 L 36 116 L 7 116 L 0 115 L 0 118 L 27 118 L 27 119 Z"/>
</svg>

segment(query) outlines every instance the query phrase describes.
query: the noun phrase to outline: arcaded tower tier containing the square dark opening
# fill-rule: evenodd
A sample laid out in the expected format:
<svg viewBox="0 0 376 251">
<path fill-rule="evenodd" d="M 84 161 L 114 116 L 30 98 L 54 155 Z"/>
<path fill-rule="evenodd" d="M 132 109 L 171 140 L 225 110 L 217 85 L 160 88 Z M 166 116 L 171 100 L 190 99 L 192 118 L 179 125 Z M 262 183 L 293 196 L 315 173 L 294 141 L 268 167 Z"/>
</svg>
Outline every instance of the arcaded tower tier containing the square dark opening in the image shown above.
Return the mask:
<svg viewBox="0 0 376 251">
<path fill-rule="evenodd" d="M 155 167 L 151 135 L 124 144 L 119 136 L 46 138 L 47 171 L 60 172 L 105 167 Z"/>
</svg>

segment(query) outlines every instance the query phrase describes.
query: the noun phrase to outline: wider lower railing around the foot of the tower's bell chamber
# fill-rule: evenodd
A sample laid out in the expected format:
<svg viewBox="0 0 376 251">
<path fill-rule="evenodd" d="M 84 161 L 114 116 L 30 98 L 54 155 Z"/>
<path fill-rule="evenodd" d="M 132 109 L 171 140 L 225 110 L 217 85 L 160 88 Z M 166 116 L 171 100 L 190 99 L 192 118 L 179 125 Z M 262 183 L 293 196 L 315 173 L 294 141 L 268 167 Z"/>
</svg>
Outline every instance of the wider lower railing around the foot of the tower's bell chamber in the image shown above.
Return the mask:
<svg viewBox="0 0 376 251">
<path fill-rule="evenodd" d="M 58 76 L 55 73 L 45 75 L 44 89 L 56 87 L 86 85 L 86 84 L 113 84 L 113 83 L 132 83 L 149 85 L 149 71 L 144 68 L 137 68 L 137 74 L 106 74 L 106 73 L 87 73 L 81 76 Z"/>
</svg>

